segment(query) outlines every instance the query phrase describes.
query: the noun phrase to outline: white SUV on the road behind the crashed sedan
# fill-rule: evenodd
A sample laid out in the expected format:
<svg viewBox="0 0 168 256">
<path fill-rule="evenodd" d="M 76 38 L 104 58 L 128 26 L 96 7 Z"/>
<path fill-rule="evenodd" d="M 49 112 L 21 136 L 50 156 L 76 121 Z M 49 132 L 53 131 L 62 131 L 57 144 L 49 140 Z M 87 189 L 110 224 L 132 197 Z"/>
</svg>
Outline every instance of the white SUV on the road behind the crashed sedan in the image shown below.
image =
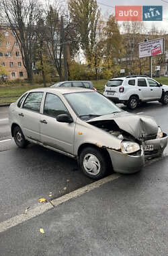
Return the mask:
<svg viewBox="0 0 168 256">
<path fill-rule="evenodd" d="M 103 95 L 115 103 L 134 109 L 140 102 L 158 100 L 168 104 L 168 86 L 159 84 L 145 75 L 128 75 L 110 79 L 103 88 Z"/>
</svg>

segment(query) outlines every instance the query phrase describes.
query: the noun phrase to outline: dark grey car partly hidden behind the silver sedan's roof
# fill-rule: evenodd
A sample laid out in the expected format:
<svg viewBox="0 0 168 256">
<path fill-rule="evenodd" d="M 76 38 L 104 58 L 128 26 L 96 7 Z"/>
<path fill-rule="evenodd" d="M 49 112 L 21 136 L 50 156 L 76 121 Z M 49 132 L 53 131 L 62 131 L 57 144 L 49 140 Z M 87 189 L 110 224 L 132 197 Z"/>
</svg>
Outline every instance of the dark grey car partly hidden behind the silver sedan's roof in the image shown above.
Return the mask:
<svg viewBox="0 0 168 256">
<path fill-rule="evenodd" d="M 96 91 L 91 81 L 64 81 L 52 84 L 50 87 L 79 87 Z"/>
</svg>

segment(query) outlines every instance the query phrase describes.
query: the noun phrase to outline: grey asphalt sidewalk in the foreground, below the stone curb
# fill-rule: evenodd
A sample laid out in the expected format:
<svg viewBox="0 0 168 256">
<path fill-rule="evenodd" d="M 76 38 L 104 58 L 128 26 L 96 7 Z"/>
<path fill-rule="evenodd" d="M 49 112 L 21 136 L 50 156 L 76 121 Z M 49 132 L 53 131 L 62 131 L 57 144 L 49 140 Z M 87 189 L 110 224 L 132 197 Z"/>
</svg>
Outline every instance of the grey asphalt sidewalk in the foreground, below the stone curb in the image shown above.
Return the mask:
<svg viewBox="0 0 168 256">
<path fill-rule="evenodd" d="M 167 166 L 164 158 L 1 232 L 0 255 L 168 255 Z"/>
</svg>

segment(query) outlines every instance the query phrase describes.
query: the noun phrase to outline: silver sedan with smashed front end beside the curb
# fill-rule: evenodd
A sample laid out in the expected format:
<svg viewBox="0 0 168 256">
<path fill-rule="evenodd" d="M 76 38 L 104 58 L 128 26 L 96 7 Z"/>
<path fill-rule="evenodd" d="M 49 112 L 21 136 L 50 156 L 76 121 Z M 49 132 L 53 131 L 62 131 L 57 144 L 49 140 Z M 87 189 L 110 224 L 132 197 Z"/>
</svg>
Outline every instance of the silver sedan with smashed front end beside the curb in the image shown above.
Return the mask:
<svg viewBox="0 0 168 256">
<path fill-rule="evenodd" d="M 17 146 L 38 143 L 76 158 L 92 179 L 109 170 L 137 172 L 145 158 L 161 156 L 167 146 L 167 134 L 152 117 L 126 113 L 83 88 L 26 92 L 9 107 L 9 122 Z"/>
</svg>

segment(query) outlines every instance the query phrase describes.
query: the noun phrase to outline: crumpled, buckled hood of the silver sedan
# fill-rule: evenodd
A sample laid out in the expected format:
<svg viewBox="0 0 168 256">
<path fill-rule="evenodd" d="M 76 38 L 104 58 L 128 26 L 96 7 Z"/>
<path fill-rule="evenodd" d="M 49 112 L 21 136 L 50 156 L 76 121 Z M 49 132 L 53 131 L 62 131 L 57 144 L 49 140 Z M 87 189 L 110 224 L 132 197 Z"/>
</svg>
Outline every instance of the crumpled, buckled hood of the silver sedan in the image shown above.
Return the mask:
<svg viewBox="0 0 168 256">
<path fill-rule="evenodd" d="M 131 113 L 121 112 L 110 115 L 103 115 L 94 119 L 88 120 L 87 123 L 93 124 L 98 121 L 113 120 L 120 129 L 130 133 L 136 139 L 142 139 L 149 135 L 155 135 L 158 131 L 158 125 L 153 117 L 143 115 L 134 115 Z"/>
</svg>

